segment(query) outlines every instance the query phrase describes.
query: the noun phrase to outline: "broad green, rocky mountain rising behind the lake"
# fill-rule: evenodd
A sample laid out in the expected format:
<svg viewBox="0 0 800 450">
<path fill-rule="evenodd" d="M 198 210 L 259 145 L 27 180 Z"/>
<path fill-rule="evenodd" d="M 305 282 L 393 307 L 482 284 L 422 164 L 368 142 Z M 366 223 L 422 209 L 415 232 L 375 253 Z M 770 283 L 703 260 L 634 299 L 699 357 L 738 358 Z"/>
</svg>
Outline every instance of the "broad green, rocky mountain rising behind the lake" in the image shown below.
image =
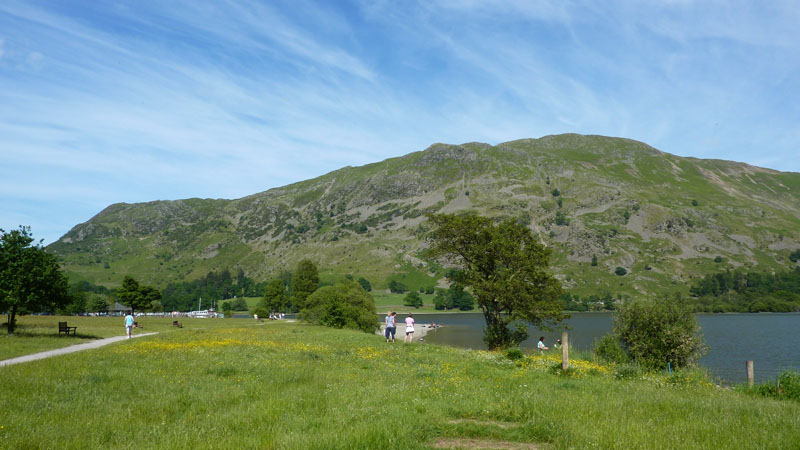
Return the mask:
<svg viewBox="0 0 800 450">
<path fill-rule="evenodd" d="M 691 279 L 725 268 L 796 266 L 800 173 L 603 136 L 434 144 L 237 200 L 114 204 L 48 249 L 73 279 L 107 286 L 127 274 L 164 286 L 222 269 L 263 280 L 311 258 L 323 279 L 419 287 L 444 274 L 422 253 L 425 214 L 462 211 L 529 225 L 573 293 L 687 292 Z"/>
</svg>

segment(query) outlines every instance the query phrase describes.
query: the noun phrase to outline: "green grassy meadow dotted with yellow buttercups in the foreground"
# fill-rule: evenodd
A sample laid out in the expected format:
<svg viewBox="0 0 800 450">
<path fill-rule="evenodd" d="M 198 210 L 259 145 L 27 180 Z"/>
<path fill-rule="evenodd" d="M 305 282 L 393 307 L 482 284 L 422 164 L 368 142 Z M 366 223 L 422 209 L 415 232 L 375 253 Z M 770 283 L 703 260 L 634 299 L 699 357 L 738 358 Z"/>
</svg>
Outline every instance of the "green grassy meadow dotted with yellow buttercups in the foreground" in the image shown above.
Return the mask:
<svg viewBox="0 0 800 450">
<path fill-rule="evenodd" d="M 87 320 L 98 330 L 79 331 L 119 334 Z M 800 446 L 797 402 L 683 374 L 563 374 L 556 353 L 511 361 L 302 323 L 145 326 L 161 333 L 0 368 L 0 448 Z"/>
</svg>

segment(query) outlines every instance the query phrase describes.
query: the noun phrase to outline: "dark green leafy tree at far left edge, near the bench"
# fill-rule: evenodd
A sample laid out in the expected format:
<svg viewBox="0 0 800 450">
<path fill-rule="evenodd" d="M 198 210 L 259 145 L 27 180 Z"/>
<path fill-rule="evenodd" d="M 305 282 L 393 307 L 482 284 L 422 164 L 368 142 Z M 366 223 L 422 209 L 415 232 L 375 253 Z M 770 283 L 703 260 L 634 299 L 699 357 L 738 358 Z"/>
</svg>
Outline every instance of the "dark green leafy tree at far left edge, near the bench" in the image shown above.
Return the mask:
<svg viewBox="0 0 800 450">
<path fill-rule="evenodd" d="M 30 227 L 0 229 L 0 311 L 8 313 L 8 334 L 19 312 L 63 308 L 71 298 L 67 277 L 55 256 L 31 245 Z"/>
</svg>

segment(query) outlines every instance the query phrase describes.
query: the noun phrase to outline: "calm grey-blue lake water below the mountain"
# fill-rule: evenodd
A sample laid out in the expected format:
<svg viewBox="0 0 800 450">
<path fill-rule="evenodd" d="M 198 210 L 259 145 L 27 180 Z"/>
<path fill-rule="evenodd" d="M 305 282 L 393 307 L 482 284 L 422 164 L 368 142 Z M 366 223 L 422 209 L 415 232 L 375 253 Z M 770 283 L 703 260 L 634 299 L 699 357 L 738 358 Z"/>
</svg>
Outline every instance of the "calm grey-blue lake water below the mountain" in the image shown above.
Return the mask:
<svg viewBox="0 0 800 450">
<path fill-rule="evenodd" d="M 398 315 L 398 322 L 405 315 Z M 611 313 L 573 313 L 566 321 L 570 346 L 591 349 L 595 339 L 611 331 Z M 483 315 L 415 314 L 417 323 L 435 322 L 442 328 L 429 333 L 425 341 L 456 347 L 485 349 Z M 381 317 L 381 320 L 383 318 Z M 757 382 L 774 379 L 783 369 L 800 369 L 800 313 L 786 314 L 699 314 L 708 353 L 700 359 L 720 381 L 746 381 L 745 361 L 753 360 Z M 530 327 L 530 339 L 523 348 L 535 348 L 539 336 L 552 347 L 561 332 L 546 332 Z"/>
</svg>

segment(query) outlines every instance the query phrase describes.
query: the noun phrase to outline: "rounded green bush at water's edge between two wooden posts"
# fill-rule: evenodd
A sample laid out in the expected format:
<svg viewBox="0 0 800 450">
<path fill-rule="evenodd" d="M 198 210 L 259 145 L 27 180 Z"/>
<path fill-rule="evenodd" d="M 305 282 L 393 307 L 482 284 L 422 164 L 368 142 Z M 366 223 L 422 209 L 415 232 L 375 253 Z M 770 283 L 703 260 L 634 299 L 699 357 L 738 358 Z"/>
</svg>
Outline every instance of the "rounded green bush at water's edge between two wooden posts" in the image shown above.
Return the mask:
<svg viewBox="0 0 800 450">
<path fill-rule="evenodd" d="M 628 356 L 653 369 L 694 364 L 706 350 L 699 331 L 691 309 L 677 301 L 628 301 L 614 317 L 614 336 Z"/>
</svg>

